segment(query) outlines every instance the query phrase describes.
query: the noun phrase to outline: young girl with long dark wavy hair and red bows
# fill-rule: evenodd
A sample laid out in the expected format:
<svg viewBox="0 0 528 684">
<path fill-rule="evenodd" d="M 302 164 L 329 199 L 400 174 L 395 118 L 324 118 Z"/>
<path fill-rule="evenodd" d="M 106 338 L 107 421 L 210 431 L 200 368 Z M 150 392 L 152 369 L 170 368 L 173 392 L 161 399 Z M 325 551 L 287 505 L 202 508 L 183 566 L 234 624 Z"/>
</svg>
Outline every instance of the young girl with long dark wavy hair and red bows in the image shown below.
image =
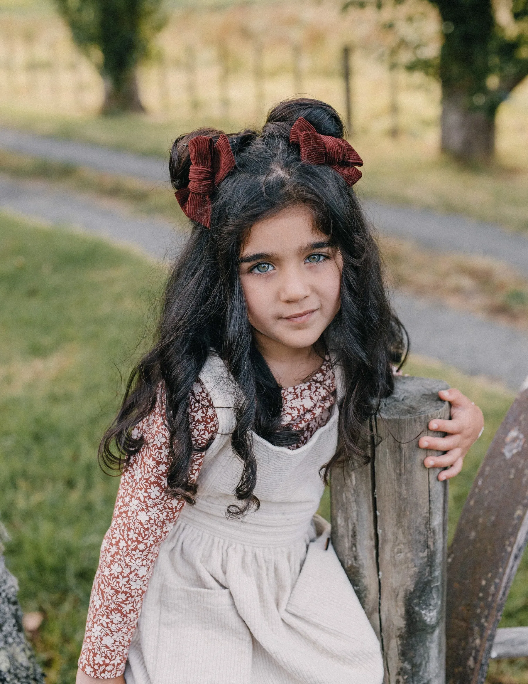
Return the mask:
<svg viewBox="0 0 528 684">
<path fill-rule="evenodd" d="M 297 99 L 262 133 L 173 144 L 193 230 L 100 447 L 123 475 L 78 684 L 383 681 L 315 515 L 332 466 L 366 462 L 364 426 L 404 347 L 343 134 L 332 107 Z M 483 419 L 457 390 L 441 398 L 452 419 L 430 429 L 449 436 L 419 444 L 447 451 L 425 461 L 447 479 Z"/>
</svg>

